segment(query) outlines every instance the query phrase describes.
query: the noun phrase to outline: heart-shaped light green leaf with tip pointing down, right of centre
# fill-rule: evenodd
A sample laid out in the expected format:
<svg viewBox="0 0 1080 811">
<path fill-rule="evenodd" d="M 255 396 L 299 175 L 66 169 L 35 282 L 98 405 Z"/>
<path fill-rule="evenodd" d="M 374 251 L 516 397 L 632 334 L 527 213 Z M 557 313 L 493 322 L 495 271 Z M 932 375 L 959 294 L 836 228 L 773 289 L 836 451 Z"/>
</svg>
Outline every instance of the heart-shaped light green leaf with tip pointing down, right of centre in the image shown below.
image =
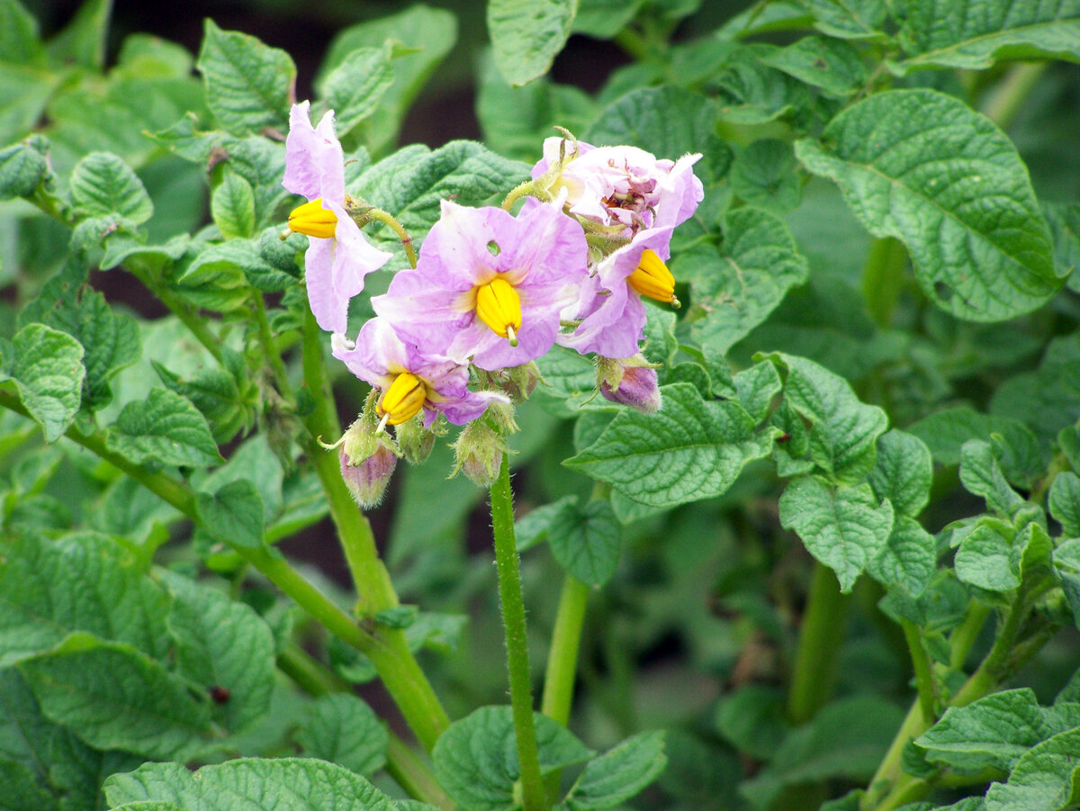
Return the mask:
<svg viewBox="0 0 1080 811">
<path fill-rule="evenodd" d="M 794 529 L 818 560 L 836 572 L 847 593 L 889 542 L 892 505 L 869 485 L 833 489 L 816 478 L 796 478 L 780 497 L 780 523 Z"/>
</svg>

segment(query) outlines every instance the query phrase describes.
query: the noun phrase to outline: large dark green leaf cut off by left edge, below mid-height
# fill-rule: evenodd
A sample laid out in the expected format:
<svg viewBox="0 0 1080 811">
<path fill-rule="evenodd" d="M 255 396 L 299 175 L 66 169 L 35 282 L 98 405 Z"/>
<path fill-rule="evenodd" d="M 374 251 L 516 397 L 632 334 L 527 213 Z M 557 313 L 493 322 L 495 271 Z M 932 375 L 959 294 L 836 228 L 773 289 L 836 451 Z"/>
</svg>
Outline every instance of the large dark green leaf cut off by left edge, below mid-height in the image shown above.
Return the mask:
<svg viewBox="0 0 1080 811">
<path fill-rule="evenodd" d="M 167 597 L 111 539 L 12 539 L 0 563 L 0 666 L 83 631 L 164 657 Z"/>
</svg>

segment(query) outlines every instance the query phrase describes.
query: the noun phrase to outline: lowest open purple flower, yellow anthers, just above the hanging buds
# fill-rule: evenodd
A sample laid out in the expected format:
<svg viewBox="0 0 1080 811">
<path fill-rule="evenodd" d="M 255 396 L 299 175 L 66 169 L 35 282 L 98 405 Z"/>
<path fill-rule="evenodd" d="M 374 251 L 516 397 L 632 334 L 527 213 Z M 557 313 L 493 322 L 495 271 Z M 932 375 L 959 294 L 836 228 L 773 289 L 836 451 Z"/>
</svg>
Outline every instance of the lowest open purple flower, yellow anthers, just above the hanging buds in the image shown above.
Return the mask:
<svg viewBox="0 0 1080 811">
<path fill-rule="evenodd" d="M 449 357 L 422 353 L 403 341 L 386 319 L 372 319 L 360 330 L 356 343 L 333 339 L 334 356 L 349 370 L 382 389 L 376 407 L 391 425 L 410 420 L 423 410 L 423 427 L 430 428 L 443 414 L 456 425 L 480 417 L 494 402 L 509 403 L 500 392 L 469 391 L 469 367 Z"/>
</svg>

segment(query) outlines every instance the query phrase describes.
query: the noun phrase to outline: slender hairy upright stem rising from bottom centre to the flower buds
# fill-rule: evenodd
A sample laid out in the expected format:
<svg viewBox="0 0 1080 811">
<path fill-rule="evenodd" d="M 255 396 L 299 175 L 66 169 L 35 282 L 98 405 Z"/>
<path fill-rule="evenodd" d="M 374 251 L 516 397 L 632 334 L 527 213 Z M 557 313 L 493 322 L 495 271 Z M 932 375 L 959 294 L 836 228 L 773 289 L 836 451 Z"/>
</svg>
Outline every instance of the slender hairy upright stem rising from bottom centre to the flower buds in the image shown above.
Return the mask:
<svg viewBox="0 0 1080 811">
<path fill-rule="evenodd" d="M 491 528 L 495 535 L 495 564 L 499 575 L 499 602 L 507 634 L 507 671 L 510 676 L 510 704 L 517 739 L 517 761 L 522 772 L 524 811 L 546 811 L 544 786 L 540 778 L 536 725 L 532 718 L 532 681 L 529 673 L 528 636 L 525 625 L 525 600 L 517 568 L 514 539 L 514 501 L 510 488 L 510 462 L 502 455 L 499 477 L 491 485 Z"/>
</svg>

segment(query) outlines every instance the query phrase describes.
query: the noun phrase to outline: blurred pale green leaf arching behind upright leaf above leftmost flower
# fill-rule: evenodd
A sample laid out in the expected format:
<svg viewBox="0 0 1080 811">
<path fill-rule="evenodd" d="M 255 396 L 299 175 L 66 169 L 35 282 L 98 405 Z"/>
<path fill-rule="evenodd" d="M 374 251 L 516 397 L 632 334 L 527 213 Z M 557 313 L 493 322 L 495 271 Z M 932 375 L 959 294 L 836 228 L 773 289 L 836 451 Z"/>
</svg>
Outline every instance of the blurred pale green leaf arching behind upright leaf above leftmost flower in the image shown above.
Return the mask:
<svg viewBox="0 0 1080 811">
<path fill-rule="evenodd" d="M 382 48 L 387 41 L 394 44 L 393 83 L 375 114 L 353 133 L 362 135 L 373 152 L 382 152 L 397 139 L 401 122 L 413 100 L 456 40 L 457 17 L 451 12 L 413 5 L 397 14 L 360 23 L 340 31 L 330 43 L 315 84 L 319 86 L 322 77 L 337 68 L 356 49 Z"/>
</svg>

